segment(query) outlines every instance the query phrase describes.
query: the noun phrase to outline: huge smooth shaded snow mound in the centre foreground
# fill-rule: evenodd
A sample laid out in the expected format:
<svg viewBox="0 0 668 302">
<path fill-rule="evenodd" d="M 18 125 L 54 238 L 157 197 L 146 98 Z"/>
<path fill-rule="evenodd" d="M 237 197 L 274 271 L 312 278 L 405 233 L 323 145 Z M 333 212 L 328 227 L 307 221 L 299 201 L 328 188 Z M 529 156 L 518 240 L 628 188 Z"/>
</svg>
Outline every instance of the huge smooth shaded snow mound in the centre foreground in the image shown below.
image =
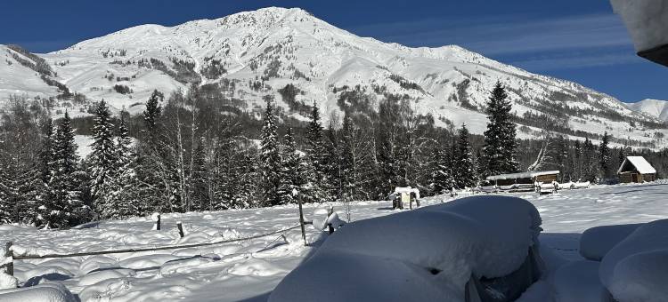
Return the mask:
<svg viewBox="0 0 668 302">
<path fill-rule="evenodd" d="M 540 225 L 534 205 L 509 196 L 355 221 L 288 274 L 270 301 L 463 301 L 471 274 L 517 270 Z"/>
</svg>

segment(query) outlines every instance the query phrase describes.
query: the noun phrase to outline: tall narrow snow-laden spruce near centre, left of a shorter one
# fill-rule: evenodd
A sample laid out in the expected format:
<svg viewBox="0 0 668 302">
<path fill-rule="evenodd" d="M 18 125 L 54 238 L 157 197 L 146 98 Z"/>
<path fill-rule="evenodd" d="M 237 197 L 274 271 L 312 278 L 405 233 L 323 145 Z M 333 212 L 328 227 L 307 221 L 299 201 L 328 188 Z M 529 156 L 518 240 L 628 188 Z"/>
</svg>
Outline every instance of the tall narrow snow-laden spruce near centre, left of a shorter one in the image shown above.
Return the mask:
<svg viewBox="0 0 668 302">
<path fill-rule="evenodd" d="M 264 200 L 269 205 L 281 204 L 281 153 L 278 145 L 278 131 L 273 116 L 273 99 L 266 98 L 265 117 L 260 143 L 260 162 Z"/>
</svg>

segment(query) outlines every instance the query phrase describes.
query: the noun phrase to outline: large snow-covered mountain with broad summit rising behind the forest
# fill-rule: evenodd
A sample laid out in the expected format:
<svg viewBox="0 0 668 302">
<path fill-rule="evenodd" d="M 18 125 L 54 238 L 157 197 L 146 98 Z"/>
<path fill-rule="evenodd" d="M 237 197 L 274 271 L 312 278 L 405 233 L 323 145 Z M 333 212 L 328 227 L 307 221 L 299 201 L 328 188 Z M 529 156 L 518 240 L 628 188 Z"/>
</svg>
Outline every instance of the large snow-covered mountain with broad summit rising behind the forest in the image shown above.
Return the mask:
<svg viewBox="0 0 668 302">
<path fill-rule="evenodd" d="M 631 145 L 660 147 L 663 142 L 648 131 L 666 131 L 660 121 L 578 83 L 535 75 L 456 45 L 411 48 L 355 36 L 296 8 L 171 28 L 143 25 L 46 54 L 12 48 L 0 45 L 6 62 L 0 62 L 0 99 L 55 96 L 63 87 L 54 85 L 63 84 L 88 101 L 105 99 L 116 109 L 139 113 L 154 89 L 187 91 L 196 83 L 248 112 L 261 111 L 263 97 L 273 95 L 286 114 L 305 119 L 305 106 L 314 102 L 328 118 L 345 106 L 374 110 L 379 99 L 395 94 L 434 115 L 440 126 L 467 123 L 482 133 L 485 101 L 501 81 L 522 117 L 523 138 L 540 136 L 542 129 L 571 137 L 607 131 L 635 140 Z M 288 84 L 294 87 L 284 89 Z"/>
</svg>

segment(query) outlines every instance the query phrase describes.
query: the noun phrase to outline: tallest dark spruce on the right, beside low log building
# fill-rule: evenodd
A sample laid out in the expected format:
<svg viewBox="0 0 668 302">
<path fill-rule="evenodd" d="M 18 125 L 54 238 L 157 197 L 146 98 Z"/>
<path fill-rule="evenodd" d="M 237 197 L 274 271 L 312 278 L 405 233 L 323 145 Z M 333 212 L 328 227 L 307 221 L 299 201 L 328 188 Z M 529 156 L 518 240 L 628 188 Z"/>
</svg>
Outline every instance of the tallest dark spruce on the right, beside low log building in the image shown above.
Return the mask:
<svg viewBox="0 0 668 302">
<path fill-rule="evenodd" d="M 511 173 L 517 171 L 515 152 L 515 123 L 510 114 L 511 104 L 508 94 L 501 85 L 496 83 L 492 96 L 487 102 L 487 130 L 483 147 L 483 176 Z"/>
</svg>

